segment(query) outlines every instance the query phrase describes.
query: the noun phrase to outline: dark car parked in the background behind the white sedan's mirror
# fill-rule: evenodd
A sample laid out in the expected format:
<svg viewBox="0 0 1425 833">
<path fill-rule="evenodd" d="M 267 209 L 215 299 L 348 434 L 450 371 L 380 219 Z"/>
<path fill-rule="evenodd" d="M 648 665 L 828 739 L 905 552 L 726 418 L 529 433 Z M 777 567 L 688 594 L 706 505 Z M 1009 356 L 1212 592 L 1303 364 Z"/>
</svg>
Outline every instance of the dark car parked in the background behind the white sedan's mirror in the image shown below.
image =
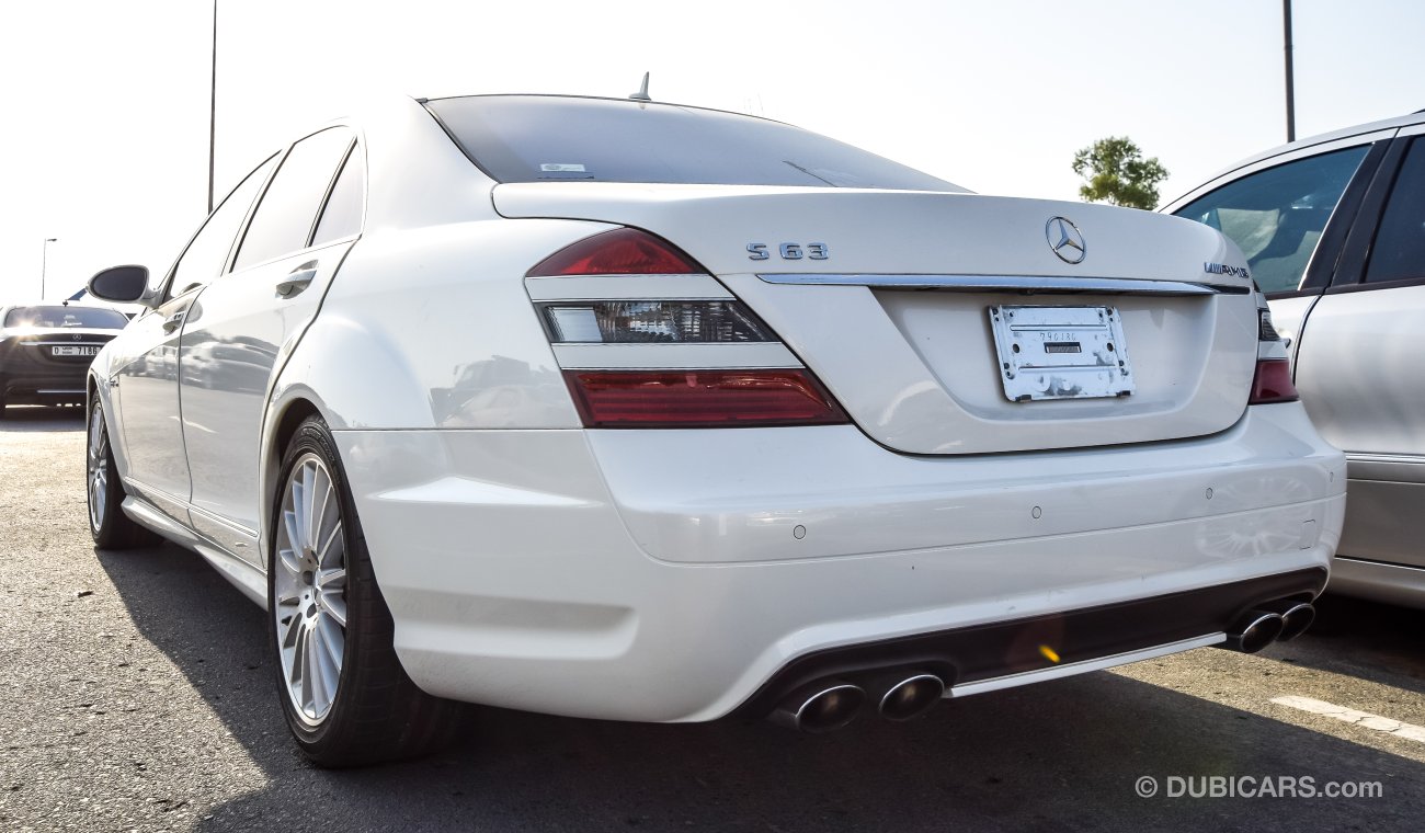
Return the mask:
<svg viewBox="0 0 1425 833">
<path fill-rule="evenodd" d="M 127 323 L 98 306 L 0 308 L 0 417 L 7 404 L 83 404 L 90 362 Z"/>
</svg>

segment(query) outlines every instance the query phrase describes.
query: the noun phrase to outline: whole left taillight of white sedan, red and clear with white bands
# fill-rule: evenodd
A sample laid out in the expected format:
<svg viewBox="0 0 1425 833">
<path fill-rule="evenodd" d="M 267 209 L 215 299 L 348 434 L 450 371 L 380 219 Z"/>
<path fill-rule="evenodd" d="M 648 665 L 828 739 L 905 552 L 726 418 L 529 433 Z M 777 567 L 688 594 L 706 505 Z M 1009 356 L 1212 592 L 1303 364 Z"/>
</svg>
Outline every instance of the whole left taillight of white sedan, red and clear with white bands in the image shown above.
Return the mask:
<svg viewBox="0 0 1425 833">
<path fill-rule="evenodd" d="M 526 278 L 586 427 L 849 421 L 765 322 L 661 238 L 603 232 Z"/>
</svg>

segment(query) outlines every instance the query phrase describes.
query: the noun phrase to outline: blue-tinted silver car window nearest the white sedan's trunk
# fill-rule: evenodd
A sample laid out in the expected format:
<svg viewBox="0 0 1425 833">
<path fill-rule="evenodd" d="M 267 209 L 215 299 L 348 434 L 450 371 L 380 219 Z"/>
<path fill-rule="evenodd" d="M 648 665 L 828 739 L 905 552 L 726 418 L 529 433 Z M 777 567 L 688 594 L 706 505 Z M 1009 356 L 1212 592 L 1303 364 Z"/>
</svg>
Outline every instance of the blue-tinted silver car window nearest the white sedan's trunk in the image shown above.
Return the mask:
<svg viewBox="0 0 1425 833">
<path fill-rule="evenodd" d="M 1231 238 L 1263 292 L 1291 292 L 1301 285 L 1331 212 L 1369 150 L 1359 145 L 1267 168 L 1176 214 Z"/>
</svg>

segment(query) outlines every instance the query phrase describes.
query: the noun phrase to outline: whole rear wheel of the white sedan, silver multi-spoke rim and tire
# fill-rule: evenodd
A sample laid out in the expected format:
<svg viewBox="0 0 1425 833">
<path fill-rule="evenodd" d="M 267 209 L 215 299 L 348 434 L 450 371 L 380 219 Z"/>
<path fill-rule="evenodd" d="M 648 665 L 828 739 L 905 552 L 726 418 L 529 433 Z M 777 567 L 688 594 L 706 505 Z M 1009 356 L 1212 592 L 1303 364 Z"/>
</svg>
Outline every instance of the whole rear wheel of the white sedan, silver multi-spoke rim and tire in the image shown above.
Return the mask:
<svg viewBox="0 0 1425 833">
<path fill-rule="evenodd" d="M 286 723 L 321 766 L 443 746 L 465 708 L 410 681 L 326 424 L 298 427 L 281 468 L 268 565 L 269 644 Z"/>
</svg>

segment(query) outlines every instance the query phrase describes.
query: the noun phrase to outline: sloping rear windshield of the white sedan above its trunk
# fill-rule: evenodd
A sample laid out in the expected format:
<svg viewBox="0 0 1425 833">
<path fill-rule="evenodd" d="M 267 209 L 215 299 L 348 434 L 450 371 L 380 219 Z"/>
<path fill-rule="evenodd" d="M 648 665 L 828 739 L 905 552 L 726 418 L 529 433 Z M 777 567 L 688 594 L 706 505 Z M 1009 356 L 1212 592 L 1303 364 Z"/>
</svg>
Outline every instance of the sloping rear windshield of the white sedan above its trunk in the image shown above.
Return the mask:
<svg viewBox="0 0 1425 833">
<path fill-rule="evenodd" d="M 963 191 L 797 127 L 607 98 L 470 95 L 426 104 L 499 182 L 670 182 Z"/>
</svg>

